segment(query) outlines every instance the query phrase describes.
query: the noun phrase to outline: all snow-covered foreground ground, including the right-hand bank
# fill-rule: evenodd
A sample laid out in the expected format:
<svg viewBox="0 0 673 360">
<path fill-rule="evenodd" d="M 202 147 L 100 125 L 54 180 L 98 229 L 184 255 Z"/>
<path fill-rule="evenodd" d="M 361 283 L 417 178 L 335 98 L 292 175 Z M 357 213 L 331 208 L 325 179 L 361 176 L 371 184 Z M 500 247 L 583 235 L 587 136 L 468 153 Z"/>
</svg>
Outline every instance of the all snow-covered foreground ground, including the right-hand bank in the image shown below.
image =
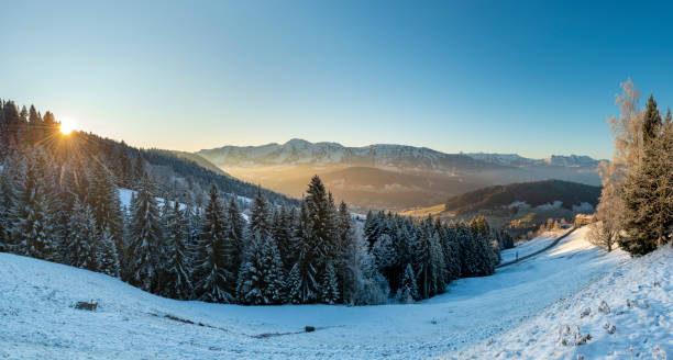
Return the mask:
<svg viewBox="0 0 673 360">
<path fill-rule="evenodd" d="M 628 261 L 584 236 L 578 229 L 549 252 L 493 277 L 461 279 L 421 303 L 362 307 L 173 301 L 107 275 L 0 254 L 0 358 L 487 359 L 588 351 L 582 353 L 593 359 L 611 347 L 670 351 L 672 251 Z M 627 307 L 627 297 L 638 305 Z M 610 315 L 597 313 L 599 299 Z M 71 307 L 88 300 L 98 301 L 98 311 Z M 592 311 L 581 319 L 583 307 Z M 610 345 L 606 322 L 616 324 L 619 344 Z M 558 345 L 561 324 L 594 338 L 588 346 Z M 317 330 L 304 333 L 306 325 Z M 644 338 L 650 342 L 641 345 Z"/>
</svg>

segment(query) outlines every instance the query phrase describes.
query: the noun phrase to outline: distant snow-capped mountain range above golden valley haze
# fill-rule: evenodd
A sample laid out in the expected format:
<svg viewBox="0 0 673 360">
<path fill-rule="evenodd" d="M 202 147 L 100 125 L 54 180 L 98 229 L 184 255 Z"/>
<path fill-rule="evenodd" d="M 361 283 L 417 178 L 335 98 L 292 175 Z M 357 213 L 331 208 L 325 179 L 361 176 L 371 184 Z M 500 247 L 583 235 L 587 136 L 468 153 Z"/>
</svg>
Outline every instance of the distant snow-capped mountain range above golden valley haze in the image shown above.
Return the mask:
<svg viewBox="0 0 673 360">
<path fill-rule="evenodd" d="M 197 155 L 223 171 L 300 196 L 319 175 L 338 200 L 362 207 L 405 210 L 444 202 L 483 187 L 560 179 L 597 185 L 599 160 L 587 156 L 530 159 L 516 154 L 446 154 L 427 147 L 291 139 L 285 144 L 223 146 Z"/>
</svg>

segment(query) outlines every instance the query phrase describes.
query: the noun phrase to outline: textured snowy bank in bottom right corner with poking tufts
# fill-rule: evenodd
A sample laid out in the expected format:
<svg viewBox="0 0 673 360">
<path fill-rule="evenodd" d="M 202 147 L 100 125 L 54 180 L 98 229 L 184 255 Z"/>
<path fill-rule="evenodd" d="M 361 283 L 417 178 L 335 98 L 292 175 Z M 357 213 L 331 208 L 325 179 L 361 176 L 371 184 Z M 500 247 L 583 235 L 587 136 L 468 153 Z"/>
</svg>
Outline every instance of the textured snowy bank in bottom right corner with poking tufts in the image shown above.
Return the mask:
<svg viewBox="0 0 673 360">
<path fill-rule="evenodd" d="M 519 328 L 442 358 L 673 359 L 672 260 L 665 246 L 628 261 Z"/>
</svg>

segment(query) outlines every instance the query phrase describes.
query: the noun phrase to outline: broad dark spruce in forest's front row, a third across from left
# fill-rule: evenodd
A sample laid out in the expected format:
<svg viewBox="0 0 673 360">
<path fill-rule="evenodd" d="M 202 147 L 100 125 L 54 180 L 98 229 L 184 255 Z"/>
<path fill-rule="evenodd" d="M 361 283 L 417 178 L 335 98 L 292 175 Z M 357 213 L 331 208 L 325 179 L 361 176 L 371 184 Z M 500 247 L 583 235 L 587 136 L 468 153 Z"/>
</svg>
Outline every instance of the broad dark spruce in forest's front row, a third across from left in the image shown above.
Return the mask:
<svg viewBox="0 0 673 360">
<path fill-rule="evenodd" d="M 230 237 L 225 210 L 218 187 L 212 184 L 203 212 L 198 265 L 194 281 L 197 299 L 211 303 L 232 303 L 236 286 L 236 248 Z"/>
</svg>

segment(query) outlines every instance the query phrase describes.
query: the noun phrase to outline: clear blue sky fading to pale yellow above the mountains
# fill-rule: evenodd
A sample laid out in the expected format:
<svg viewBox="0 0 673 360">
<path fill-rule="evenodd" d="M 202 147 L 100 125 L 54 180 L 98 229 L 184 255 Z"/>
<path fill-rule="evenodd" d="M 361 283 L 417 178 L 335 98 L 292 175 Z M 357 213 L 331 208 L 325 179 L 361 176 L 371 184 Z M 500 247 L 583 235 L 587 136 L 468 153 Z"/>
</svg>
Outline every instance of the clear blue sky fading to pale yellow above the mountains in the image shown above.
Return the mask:
<svg viewBox="0 0 673 360">
<path fill-rule="evenodd" d="M 609 158 L 620 82 L 673 106 L 665 2 L 0 3 L 0 98 L 140 147 Z"/>
</svg>

